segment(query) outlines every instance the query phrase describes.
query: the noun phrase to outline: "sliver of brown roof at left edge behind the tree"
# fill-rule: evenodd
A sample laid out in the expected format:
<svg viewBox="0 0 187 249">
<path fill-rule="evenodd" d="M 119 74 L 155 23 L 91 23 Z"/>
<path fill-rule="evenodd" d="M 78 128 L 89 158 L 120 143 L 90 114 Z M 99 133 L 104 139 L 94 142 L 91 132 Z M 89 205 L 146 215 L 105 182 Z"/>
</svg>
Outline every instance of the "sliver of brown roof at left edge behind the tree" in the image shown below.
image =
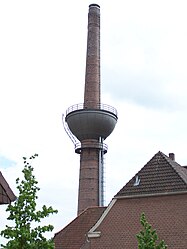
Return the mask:
<svg viewBox="0 0 187 249">
<path fill-rule="evenodd" d="M 9 187 L 7 181 L 0 171 L 0 204 L 9 204 L 16 200 L 16 196 Z"/>
</svg>

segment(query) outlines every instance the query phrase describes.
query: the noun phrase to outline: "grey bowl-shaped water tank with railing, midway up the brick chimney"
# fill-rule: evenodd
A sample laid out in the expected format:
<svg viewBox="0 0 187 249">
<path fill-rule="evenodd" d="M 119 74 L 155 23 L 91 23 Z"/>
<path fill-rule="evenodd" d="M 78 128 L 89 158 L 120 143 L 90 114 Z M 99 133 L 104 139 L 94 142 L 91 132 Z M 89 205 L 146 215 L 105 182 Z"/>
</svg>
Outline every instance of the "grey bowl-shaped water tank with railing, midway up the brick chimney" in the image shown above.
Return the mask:
<svg viewBox="0 0 187 249">
<path fill-rule="evenodd" d="M 109 105 L 100 109 L 85 109 L 83 104 L 73 105 L 66 111 L 69 129 L 79 141 L 85 139 L 106 139 L 117 123 L 117 111 Z"/>
</svg>

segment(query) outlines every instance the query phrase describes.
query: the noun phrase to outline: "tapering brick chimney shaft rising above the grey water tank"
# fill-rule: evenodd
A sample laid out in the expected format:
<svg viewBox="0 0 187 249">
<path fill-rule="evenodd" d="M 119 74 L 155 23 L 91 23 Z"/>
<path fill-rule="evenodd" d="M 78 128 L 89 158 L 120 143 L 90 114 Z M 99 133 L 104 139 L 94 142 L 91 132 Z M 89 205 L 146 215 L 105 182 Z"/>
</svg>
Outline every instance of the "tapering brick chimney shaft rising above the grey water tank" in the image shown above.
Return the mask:
<svg viewBox="0 0 187 249">
<path fill-rule="evenodd" d="M 100 105 L 100 7 L 89 5 L 84 108 Z"/>
</svg>

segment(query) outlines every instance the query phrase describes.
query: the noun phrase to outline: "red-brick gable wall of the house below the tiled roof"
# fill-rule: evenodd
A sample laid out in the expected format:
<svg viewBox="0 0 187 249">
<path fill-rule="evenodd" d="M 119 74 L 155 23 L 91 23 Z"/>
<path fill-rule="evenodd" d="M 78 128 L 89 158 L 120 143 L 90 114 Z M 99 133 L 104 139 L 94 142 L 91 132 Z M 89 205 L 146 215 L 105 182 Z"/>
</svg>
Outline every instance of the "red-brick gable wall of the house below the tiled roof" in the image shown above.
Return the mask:
<svg viewBox="0 0 187 249">
<path fill-rule="evenodd" d="M 118 199 L 97 229 L 101 236 L 90 238 L 90 248 L 137 248 L 142 212 L 168 249 L 187 248 L 187 194 Z"/>
</svg>

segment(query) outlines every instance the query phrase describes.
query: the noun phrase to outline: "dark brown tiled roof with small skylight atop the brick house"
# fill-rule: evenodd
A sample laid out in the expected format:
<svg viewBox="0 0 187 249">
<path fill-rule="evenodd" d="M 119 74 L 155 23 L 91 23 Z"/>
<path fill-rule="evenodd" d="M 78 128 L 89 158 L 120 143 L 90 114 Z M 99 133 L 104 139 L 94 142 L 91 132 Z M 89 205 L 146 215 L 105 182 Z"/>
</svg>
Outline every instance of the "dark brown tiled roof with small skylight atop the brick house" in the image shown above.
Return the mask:
<svg viewBox="0 0 187 249">
<path fill-rule="evenodd" d="M 159 151 L 115 198 L 183 192 L 187 193 L 187 168 Z"/>
</svg>

